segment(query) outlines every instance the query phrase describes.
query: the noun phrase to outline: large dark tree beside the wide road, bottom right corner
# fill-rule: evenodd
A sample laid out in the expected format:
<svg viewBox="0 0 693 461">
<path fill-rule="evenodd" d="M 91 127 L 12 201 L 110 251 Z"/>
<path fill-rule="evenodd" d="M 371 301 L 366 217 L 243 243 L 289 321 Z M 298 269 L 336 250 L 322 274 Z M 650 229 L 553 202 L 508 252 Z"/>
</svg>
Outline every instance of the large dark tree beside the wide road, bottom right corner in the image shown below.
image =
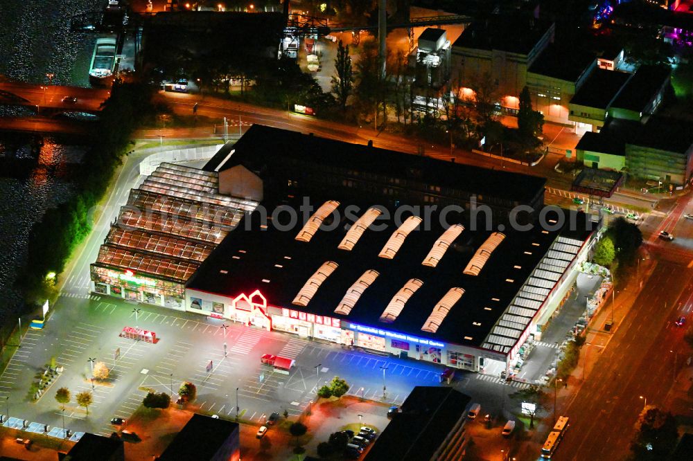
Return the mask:
<svg viewBox="0 0 693 461">
<path fill-rule="evenodd" d="M 676 446 L 677 439 L 676 419 L 672 413 L 648 405 L 635 422 L 631 450 L 636 460 L 664 460 Z"/>
</svg>

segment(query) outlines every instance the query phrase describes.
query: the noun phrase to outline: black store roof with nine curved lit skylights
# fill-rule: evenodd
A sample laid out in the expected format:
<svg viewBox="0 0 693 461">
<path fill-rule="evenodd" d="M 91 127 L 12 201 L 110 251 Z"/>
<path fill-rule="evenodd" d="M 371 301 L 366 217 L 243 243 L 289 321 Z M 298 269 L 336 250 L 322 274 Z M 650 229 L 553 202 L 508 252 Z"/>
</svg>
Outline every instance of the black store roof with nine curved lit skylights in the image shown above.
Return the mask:
<svg viewBox="0 0 693 461">
<path fill-rule="evenodd" d="M 339 197 L 311 197 L 315 215 L 326 219 L 313 216 L 304 229 L 302 222 L 288 230 L 272 222 L 263 227 L 259 213 L 246 217 L 200 266 L 188 289 L 229 297 L 257 289 L 272 306 L 507 352 L 589 234 L 581 214 L 573 215 L 574 233 L 566 225 L 505 230 L 499 237 L 470 230 L 456 211 L 445 219 L 464 230 L 448 233 L 437 211 L 419 223 L 407 206 L 380 208 L 383 214 L 370 216 L 376 222 L 369 227 L 371 204 L 331 199 Z M 277 205 L 297 210 L 299 204 L 299 197 L 287 197 L 263 206 L 272 215 Z M 332 213 L 344 218 L 337 224 Z M 318 229 L 321 224 L 335 226 L 328 231 Z M 367 289 L 347 299 L 356 287 Z M 438 309 L 441 304 L 448 307 Z M 497 325 L 499 319 L 509 323 Z"/>
</svg>

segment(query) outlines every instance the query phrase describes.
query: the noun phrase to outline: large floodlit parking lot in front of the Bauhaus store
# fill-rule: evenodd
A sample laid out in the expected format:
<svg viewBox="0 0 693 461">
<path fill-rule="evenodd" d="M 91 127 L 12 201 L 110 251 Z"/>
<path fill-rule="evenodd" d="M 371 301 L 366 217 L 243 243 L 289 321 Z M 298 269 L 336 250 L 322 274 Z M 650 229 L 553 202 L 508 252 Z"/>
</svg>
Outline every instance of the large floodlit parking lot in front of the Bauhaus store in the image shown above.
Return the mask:
<svg viewBox="0 0 693 461">
<path fill-rule="evenodd" d="M 351 347 L 307 341 L 291 334 L 204 318 L 195 314 L 147 307 L 107 296 L 61 296 L 43 330 L 29 330 L 7 370 L 0 376 L 0 399 L 10 397 L 10 416 L 71 431 L 109 435 L 112 417 L 128 419 L 147 390 L 168 392 L 173 400 L 184 380 L 198 388 L 200 410 L 263 422 L 273 411 L 299 415 L 315 399 L 317 387 L 334 376 L 347 380 L 348 395 L 401 404 L 414 386 L 439 386 L 440 365 L 371 354 Z M 226 325 L 226 327 L 224 327 Z M 119 336 L 123 327 L 155 332 L 146 343 Z M 295 359 L 289 374 L 261 365 L 262 354 Z M 64 372 L 40 399 L 29 389 L 51 357 Z M 89 359 L 103 361 L 109 377 L 90 380 Z M 457 372 L 453 386 L 498 406 L 502 393 L 523 383 Z M 72 401 L 62 411 L 55 390 L 67 387 Z M 385 397 L 383 398 L 383 387 Z M 74 396 L 91 390 L 89 413 Z M 478 397 L 477 397 L 478 396 Z M 487 397 L 486 397 L 487 396 Z M 500 408 L 498 408 L 500 410 Z M 3 408 L 2 413 L 6 413 Z"/>
</svg>

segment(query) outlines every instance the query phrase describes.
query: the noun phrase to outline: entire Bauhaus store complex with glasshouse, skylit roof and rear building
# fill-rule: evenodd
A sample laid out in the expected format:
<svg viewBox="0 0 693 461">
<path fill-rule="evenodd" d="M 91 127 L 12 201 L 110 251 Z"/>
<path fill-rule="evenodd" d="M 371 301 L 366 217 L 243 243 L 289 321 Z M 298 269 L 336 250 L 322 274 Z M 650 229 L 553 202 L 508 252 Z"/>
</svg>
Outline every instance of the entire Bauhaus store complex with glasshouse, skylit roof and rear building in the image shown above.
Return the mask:
<svg viewBox="0 0 693 461">
<path fill-rule="evenodd" d="M 102 253 L 137 258 L 100 254 L 96 291 L 467 370 L 507 367 L 541 337 L 595 236 L 588 216 L 543 207 L 541 178 L 260 125 L 181 172 L 226 213 L 183 216 L 195 235 L 140 218 L 131 247 L 114 224 Z M 186 271 L 174 280 L 165 260 Z"/>
</svg>

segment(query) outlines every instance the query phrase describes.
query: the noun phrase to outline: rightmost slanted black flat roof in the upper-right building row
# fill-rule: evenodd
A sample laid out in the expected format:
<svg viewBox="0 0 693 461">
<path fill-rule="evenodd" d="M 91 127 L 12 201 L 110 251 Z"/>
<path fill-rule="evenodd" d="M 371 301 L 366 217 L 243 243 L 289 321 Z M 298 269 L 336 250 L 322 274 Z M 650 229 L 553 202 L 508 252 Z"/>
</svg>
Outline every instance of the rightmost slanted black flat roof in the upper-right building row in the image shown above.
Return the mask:
<svg viewBox="0 0 693 461">
<path fill-rule="evenodd" d="M 611 107 L 635 112 L 645 111 L 671 75 L 672 69 L 669 66 L 640 66 L 611 103 Z"/>
</svg>

